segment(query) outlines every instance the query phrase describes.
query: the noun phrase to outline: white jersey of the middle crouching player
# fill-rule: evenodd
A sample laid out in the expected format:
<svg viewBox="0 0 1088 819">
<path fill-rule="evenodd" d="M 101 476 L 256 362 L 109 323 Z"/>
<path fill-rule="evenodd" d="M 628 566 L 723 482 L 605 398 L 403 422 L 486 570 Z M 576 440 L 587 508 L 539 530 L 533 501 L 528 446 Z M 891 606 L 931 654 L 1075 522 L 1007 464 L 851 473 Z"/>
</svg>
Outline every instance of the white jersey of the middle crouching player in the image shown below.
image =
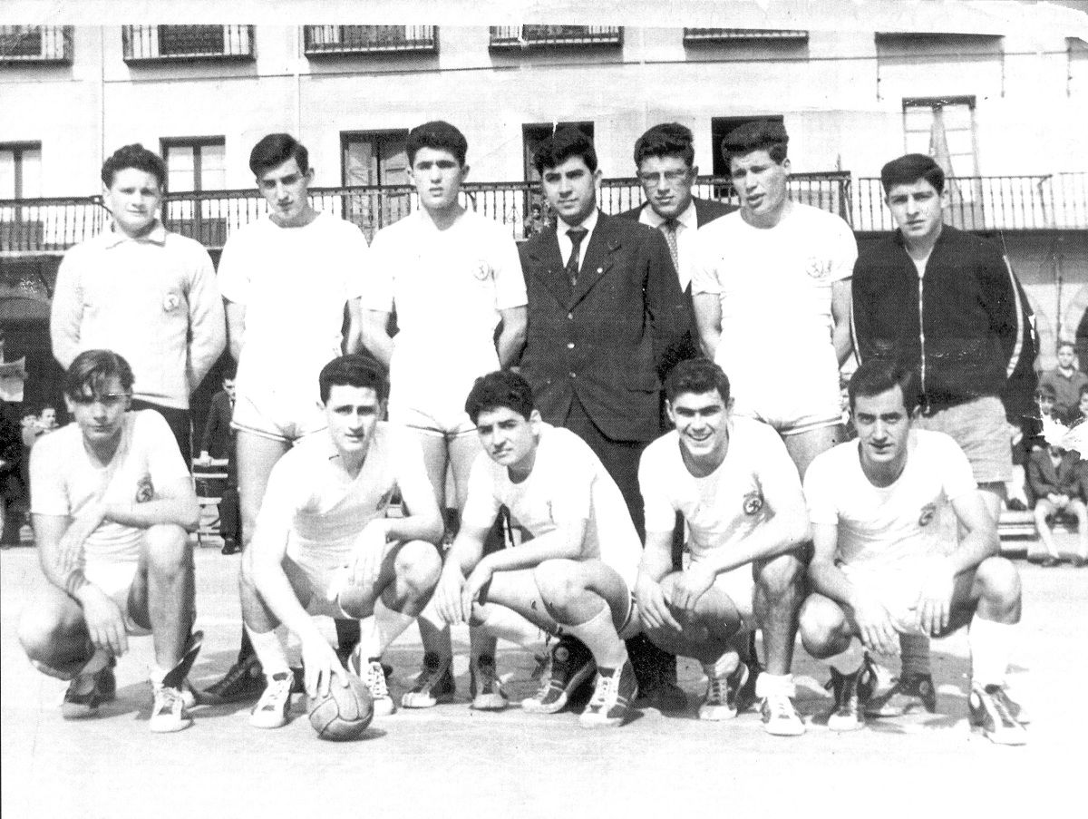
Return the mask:
<svg viewBox="0 0 1088 819">
<path fill-rule="evenodd" d="M 469 476 L 466 523 L 486 528 L 499 508 L 533 537 L 585 521 L 583 553 L 611 566 L 634 588 L 642 545 L 619 487 L 589 444 L 567 429 L 541 424 L 533 469 L 520 484 L 505 466 L 481 453 Z"/>
</svg>

